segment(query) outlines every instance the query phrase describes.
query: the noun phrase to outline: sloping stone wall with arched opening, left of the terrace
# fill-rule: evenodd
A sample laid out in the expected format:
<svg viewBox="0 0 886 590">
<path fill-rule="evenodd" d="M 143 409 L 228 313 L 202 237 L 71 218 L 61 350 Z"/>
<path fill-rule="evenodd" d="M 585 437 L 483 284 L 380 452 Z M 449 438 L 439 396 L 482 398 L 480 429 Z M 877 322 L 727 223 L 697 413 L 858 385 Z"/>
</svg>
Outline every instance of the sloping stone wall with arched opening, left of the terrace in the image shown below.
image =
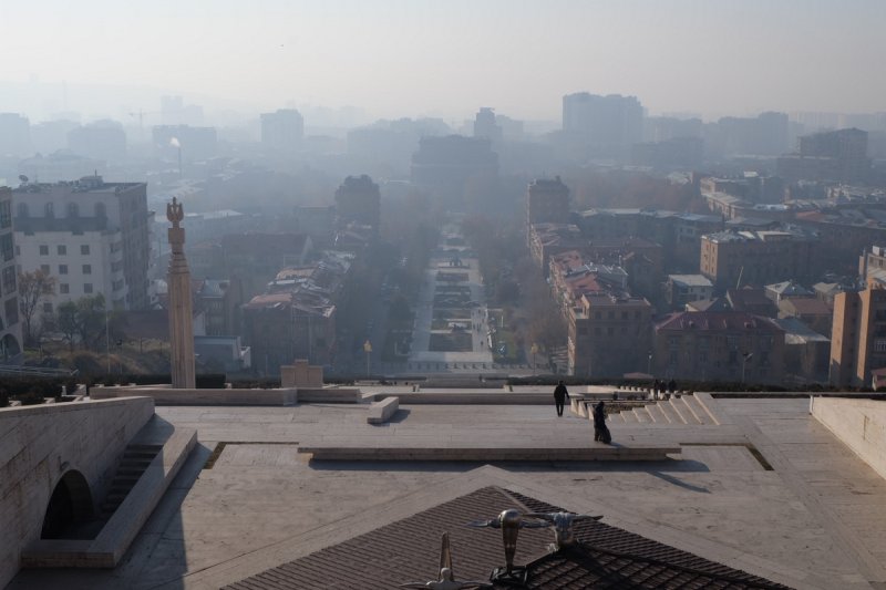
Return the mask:
<svg viewBox="0 0 886 590">
<path fill-rule="evenodd" d="M 126 444 L 153 415 L 148 397 L 0 410 L 0 588 L 18 571 L 22 548 L 40 539 L 61 477 L 80 472 L 100 500 Z"/>
</svg>

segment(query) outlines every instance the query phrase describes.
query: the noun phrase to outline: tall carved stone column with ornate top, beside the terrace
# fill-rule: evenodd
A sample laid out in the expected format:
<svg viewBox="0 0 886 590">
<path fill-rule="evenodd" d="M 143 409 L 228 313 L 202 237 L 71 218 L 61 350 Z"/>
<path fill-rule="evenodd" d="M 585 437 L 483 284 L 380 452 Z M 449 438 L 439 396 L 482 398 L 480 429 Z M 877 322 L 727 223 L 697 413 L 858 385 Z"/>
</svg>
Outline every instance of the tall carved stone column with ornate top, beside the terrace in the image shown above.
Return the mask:
<svg viewBox="0 0 886 590">
<path fill-rule="evenodd" d="M 168 284 L 169 346 L 173 374 L 173 389 L 194 389 L 194 315 L 190 300 L 190 270 L 185 259 L 185 229 L 181 227 L 185 211 L 175 197 L 166 205 L 169 228 L 169 271 Z"/>
</svg>

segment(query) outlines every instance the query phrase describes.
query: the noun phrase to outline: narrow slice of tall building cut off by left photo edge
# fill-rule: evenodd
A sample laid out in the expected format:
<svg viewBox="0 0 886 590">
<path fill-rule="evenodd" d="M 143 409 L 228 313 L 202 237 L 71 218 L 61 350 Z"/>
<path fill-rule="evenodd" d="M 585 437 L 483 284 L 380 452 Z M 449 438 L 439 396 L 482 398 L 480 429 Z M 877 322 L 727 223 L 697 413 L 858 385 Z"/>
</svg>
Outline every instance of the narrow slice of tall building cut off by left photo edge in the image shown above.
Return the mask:
<svg viewBox="0 0 886 590">
<path fill-rule="evenodd" d="M 0 187 L 0 363 L 21 354 L 19 289 L 12 236 L 12 190 Z"/>
</svg>

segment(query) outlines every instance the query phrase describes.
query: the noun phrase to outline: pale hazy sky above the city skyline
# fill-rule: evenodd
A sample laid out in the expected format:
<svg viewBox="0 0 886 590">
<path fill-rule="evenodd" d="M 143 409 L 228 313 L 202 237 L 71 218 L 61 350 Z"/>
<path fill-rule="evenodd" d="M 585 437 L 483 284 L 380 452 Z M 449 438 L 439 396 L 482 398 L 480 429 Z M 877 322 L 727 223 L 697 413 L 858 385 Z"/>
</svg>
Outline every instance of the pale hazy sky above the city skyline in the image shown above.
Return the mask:
<svg viewBox="0 0 886 590">
<path fill-rule="evenodd" d="M 257 110 L 556 120 L 586 90 L 652 114 L 886 111 L 884 0 L 0 0 L 0 82 Z"/>
</svg>

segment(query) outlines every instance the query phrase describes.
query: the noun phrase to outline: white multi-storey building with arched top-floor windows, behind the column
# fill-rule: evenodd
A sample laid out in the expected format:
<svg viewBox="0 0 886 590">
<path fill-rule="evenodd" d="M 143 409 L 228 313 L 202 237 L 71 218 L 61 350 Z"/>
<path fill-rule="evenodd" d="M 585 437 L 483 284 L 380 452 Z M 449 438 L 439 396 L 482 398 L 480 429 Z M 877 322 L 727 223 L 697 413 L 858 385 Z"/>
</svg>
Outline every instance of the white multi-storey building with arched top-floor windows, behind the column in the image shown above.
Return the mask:
<svg viewBox="0 0 886 590">
<path fill-rule="evenodd" d="M 39 269 L 55 278 L 49 306 L 102 293 L 114 309 L 147 308 L 144 183 L 86 176 L 71 183 L 24 184 L 12 195 L 18 263 L 22 271 Z"/>
</svg>

